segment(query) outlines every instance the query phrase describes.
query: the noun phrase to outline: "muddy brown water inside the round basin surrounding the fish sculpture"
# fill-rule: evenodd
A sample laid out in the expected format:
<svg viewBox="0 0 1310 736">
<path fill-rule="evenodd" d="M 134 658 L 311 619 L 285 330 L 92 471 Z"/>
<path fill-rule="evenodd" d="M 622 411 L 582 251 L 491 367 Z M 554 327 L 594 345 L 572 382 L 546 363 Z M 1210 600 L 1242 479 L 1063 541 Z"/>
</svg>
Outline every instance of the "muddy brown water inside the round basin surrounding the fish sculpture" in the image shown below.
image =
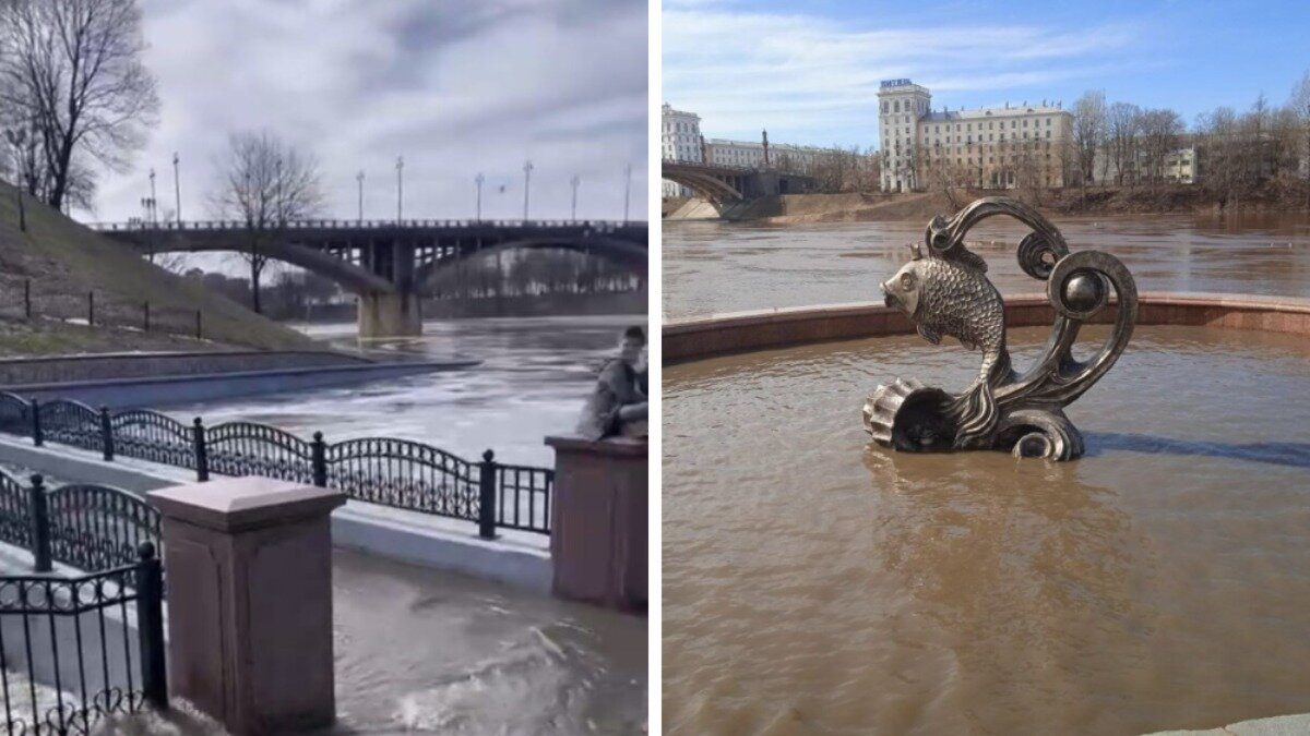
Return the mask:
<svg viewBox="0 0 1310 736">
<path fill-rule="evenodd" d="M 1010 331 L 1017 368 L 1047 331 Z M 1310 343 L 1138 329 L 1069 409 L 1077 462 L 867 444 L 879 382 L 960 390 L 977 363 L 912 335 L 664 369 L 667 732 L 1310 711 Z"/>
</svg>

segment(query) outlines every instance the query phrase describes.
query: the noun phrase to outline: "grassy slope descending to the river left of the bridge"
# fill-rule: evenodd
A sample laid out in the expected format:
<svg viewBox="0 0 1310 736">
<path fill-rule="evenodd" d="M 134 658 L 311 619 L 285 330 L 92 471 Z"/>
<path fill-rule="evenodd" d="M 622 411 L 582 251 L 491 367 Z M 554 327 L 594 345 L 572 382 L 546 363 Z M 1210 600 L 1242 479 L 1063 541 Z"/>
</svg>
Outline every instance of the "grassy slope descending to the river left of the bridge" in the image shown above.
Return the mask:
<svg viewBox="0 0 1310 736">
<path fill-rule="evenodd" d="M 203 313 L 207 340 L 263 350 L 316 347 L 312 339 L 266 320 L 249 309 L 211 293 L 199 284 L 170 274 L 64 217 L 59 212 L 25 198 L 28 232 L 18 229 L 14 190 L 0 182 L 0 301 L 22 304 L 22 282 L 31 279 L 34 295 L 62 299 L 69 305 L 85 304 L 86 292 L 96 292 L 97 312 L 121 310 L 140 314 L 149 301 L 155 313 L 186 310 Z M 13 309 L 5 309 L 13 314 Z M 203 350 L 214 346 L 198 340 L 144 335 L 132 330 L 77 327 L 5 320 L 0 329 L 0 352 L 103 351 L 103 350 Z M 189 344 L 187 344 L 189 343 Z"/>
</svg>

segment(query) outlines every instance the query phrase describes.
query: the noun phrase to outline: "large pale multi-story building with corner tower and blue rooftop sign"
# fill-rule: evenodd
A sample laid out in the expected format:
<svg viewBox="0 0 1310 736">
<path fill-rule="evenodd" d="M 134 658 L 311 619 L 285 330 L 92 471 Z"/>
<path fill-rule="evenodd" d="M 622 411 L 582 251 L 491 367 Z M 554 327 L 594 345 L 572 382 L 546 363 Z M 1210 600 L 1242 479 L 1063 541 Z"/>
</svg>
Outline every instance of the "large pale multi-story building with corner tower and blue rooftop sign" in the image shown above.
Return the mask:
<svg viewBox="0 0 1310 736">
<path fill-rule="evenodd" d="M 886 80 L 878 92 L 883 191 L 956 185 L 1060 187 L 1069 178 L 1073 115 L 1060 105 L 933 111 L 927 88 Z"/>
</svg>

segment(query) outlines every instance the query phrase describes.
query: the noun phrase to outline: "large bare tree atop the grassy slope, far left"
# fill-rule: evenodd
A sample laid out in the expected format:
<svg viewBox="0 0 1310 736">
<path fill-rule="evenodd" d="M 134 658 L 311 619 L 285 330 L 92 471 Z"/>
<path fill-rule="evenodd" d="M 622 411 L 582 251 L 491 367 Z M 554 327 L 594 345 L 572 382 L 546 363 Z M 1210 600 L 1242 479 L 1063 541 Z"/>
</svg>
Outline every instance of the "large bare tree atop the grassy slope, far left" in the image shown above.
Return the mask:
<svg viewBox="0 0 1310 736">
<path fill-rule="evenodd" d="M 28 186 L 50 206 L 88 203 L 93 164 L 123 170 L 155 123 L 136 0 L 0 4 L 0 107 L 29 126 L 39 157 Z"/>
</svg>

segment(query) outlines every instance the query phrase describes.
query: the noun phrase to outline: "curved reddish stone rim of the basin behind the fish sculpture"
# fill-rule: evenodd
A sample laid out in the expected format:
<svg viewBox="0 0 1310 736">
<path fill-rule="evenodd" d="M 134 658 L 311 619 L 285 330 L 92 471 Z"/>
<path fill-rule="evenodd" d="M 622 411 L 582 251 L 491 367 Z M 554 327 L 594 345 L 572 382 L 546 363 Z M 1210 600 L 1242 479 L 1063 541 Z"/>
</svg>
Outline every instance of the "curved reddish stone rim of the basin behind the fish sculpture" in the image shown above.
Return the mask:
<svg viewBox="0 0 1310 736">
<path fill-rule="evenodd" d="M 1093 322 L 1111 322 L 1114 316 L 1111 305 Z M 1055 310 L 1045 295 L 1020 295 L 1006 297 L 1005 317 L 1010 327 L 1049 325 Z M 1310 335 L 1310 299 L 1144 292 L 1138 295 L 1137 323 Z M 913 331 L 904 313 L 883 304 L 833 304 L 669 321 L 663 327 L 662 347 L 663 360 L 669 364 L 730 352 Z"/>
</svg>

